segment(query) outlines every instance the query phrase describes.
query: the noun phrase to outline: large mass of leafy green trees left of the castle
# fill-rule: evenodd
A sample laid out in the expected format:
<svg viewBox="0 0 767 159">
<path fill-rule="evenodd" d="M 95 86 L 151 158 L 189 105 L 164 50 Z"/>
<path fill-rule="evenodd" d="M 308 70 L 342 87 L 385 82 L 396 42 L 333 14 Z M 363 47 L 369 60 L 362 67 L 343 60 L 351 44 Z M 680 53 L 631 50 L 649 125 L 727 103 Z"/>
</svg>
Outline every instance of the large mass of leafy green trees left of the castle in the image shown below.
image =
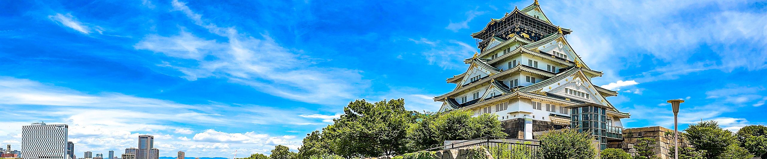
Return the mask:
<svg viewBox="0 0 767 159">
<path fill-rule="evenodd" d="M 497 115 L 472 115 L 471 110 L 409 111 L 404 99 L 375 103 L 355 100 L 344 107 L 343 115 L 333 119 L 334 124 L 308 134 L 296 159 L 332 154 L 380 157 L 434 148 L 446 140 L 506 136 Z"/>
</svg>

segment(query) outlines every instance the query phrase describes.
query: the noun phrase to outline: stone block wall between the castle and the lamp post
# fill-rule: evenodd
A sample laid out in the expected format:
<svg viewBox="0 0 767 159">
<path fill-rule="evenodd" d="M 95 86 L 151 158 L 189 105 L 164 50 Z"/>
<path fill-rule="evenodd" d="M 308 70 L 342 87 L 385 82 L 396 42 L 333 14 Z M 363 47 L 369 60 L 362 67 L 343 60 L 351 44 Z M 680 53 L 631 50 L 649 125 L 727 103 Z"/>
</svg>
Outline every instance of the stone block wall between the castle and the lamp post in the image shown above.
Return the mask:
<svg viewBox="0 0 767 159">
<path fill-rule="evenodd" d="M 621 148 L 633 156 L 637 154 L 637 148 L 634 148 L 637 144 L 637 138 L 653 138 L 657 141 L 656 144 L 652 145 L 655 147 L 653 152 L 655 152 L 661 159 L 671 159 L 673 158 L 673 155 L 669 156 L 668 154 L 669 149 L 673 148 L 673 134 L 665 135 L 667 131 L 673 133 L 673 130 L 660 126 L 627 128 L 623 131 L 624 141 L 607 142 L 607 148 Z M 683 145 L 688 144 L 688 142 L 681 137 L 682 132 L 679 134 L 680 147 L 683 147 Z"/>
</svg>

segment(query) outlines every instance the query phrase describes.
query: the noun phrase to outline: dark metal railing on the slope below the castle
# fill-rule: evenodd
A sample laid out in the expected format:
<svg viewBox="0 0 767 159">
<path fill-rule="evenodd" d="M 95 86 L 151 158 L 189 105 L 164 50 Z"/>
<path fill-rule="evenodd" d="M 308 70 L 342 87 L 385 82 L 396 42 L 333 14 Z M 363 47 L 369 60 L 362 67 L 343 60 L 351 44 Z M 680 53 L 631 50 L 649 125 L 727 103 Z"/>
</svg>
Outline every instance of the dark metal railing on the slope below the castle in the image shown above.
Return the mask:
<svg viewBox="0 0 767 159">
<path fill-rule="evenodd" d="M 535 156 L 538 148 L 540 147 L 540 141 L 526 140 L 518 138 L 502 138 L 486 136 L 482 138 L 475 138 L 467 141 L 460 141 L 458 143 L 446 144 L 436 148 L 429 148 L 422 151 L 439 151 L 459 148 L 469 148 L 473 146 L 482 146 L 488 148 L 491 154 L 512 157 L 512 156 Z M 505 157 L 502 157 L 505 158 Z"/>
</svg>

